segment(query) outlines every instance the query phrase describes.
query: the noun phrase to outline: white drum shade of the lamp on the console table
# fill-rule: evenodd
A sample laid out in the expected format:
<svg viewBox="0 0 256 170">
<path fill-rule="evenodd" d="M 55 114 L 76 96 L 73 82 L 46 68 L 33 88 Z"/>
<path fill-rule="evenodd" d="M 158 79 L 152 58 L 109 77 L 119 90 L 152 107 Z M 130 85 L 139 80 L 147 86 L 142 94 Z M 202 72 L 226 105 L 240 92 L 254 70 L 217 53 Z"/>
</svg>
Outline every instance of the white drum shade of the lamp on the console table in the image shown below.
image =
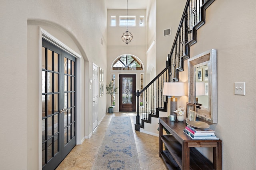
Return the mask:
<svg viewBox="0 0 256 170">
<path fill-rule="evenodd" d="M 165 96 L 184 96 L 183 82 L 165 82 L 163 95 Z"/>
</svg>

